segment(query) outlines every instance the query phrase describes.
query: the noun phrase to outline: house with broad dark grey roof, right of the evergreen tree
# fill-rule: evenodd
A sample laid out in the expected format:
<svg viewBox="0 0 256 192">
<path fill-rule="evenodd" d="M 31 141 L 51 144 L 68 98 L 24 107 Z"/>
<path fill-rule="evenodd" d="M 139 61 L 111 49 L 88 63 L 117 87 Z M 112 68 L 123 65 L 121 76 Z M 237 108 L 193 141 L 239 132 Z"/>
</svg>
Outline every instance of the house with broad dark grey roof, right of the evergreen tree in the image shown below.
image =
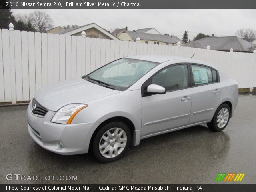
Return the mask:
<svg viewBox="0 0 256 192">
<path fill-rule="evenodd" d="M 196 41 L 192 41 L 183 46 L 206 49 L 208 45 L 210 46 L 211 50 L 230 51 L 232 48 L 234 52 L 253 52 L 252 43 L 236 36 L 216 37 L 212 35 Z"/>
</svg>

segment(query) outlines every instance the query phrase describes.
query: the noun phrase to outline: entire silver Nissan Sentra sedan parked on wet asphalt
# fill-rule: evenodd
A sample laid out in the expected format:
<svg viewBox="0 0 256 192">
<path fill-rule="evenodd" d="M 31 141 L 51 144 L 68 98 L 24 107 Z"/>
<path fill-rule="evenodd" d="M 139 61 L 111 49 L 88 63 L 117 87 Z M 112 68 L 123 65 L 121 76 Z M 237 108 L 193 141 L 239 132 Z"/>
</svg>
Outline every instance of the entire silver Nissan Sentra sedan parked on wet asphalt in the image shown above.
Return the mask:
<svg viewBox="0 0 256 192">
<path fill-rule="evenodd" d="M 119 159 L 141 139 L 207 123 L 222 131 L 238 102 L 236 81 L 211 64 L 173 56 L 121 58 L 46 86 L 27 110 L 28 132 L 43 148 Z"/>
</svg>

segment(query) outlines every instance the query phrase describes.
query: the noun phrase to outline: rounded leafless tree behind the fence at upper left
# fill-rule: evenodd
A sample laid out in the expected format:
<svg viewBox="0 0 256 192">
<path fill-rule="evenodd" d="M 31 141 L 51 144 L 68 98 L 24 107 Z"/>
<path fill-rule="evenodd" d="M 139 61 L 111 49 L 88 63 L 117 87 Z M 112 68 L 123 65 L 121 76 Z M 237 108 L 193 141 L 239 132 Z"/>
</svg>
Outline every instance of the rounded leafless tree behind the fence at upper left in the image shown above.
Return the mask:
<svg viewBox="0 0 256 192">
<path fill-rule="evenodd" d="M 34 11 L 29 14 L 30 21 L 38 32 L 46 32 L 53 27 L 53 20 L 50 15 L 41 11 Z"/>
</svg>

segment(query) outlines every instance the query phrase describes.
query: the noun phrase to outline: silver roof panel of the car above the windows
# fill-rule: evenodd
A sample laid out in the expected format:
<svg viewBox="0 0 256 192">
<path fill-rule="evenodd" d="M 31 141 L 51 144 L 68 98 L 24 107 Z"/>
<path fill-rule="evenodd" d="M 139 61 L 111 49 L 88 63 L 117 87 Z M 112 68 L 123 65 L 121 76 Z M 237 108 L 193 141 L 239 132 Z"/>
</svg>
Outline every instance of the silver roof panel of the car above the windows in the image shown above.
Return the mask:
<svg viewBox="0 0 256 192">
<path fill-rule="evenodd" d="M 194 59 L 185 58 L 185 57 L 169 56 L 169 55 L 134 55 L 134 56 L 128 56 L 125 58 L 145 60 L 145 61 L 158 62 L 158 63 L 163 63 L 163 62 L 170 61 L 170 60 L 182 60 L 182 62 L 203 64 L 206 66 L 216 68 L 212 64 L 203 62 L 200 60 L 194 60 Z"/>
</svg>

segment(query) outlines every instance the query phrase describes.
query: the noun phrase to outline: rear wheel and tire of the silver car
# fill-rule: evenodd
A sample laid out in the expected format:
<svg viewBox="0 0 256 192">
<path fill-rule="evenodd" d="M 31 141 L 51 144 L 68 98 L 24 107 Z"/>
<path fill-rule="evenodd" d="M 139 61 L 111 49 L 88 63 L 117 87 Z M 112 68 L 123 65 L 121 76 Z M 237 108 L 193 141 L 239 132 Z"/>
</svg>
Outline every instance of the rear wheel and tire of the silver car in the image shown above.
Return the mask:
<svg viewBox="0 0 256 192">
<path fill-rule="evenodd" d="M 224 128 L 226 128 L 226 126 L 228 125 L 229 119 L 230 119 L 230 107 L 228 106 L 228 104 L 224 103 L 218 107 L 218 109 L 216 110 L 212 118 L 212 121 L 207 123 L 207 126 L 211 130 L 219 132 L 224 130 Z"/>
</svg>

